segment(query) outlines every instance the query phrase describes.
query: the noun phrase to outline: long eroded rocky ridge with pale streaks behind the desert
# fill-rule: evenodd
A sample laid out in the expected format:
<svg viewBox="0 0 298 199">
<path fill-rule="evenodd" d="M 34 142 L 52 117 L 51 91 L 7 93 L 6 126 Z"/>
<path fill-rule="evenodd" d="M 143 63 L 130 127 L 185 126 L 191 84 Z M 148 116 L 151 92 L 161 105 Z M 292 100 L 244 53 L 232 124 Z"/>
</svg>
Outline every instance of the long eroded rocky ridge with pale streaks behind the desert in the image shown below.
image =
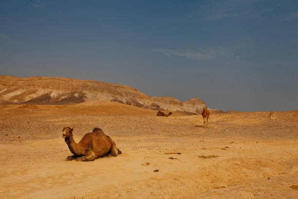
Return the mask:
<svg viewBox="0 0 298 199">
<path fill-rule="evenodd" d="M 135 88 L 93 80 L 0 76 L 0 103 L 66 104 L 108 100 L 154 110 L 202 113 L 198 98 L 180 101 L 172 97 L 150 97 Z"/>
</svg>

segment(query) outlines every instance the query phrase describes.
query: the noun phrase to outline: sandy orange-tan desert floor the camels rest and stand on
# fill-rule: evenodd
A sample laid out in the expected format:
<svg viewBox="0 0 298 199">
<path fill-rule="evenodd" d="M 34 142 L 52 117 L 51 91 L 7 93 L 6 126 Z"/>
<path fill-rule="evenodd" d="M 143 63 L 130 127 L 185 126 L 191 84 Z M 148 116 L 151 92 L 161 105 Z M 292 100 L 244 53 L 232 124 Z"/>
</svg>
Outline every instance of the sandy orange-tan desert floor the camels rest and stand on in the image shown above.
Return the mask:
<svg viewBox="0 0 298 199">
<path fill-rule="evenodd" d="M 298 198 L 298 111 L 211 114 L 208 128 L 200 115 L 156 112 L 104 101 L 0 106 L 0 198 Z M 102 128 L 122 154 L 66 161 L 67 126 L 77 142 Z"/>
</svg>

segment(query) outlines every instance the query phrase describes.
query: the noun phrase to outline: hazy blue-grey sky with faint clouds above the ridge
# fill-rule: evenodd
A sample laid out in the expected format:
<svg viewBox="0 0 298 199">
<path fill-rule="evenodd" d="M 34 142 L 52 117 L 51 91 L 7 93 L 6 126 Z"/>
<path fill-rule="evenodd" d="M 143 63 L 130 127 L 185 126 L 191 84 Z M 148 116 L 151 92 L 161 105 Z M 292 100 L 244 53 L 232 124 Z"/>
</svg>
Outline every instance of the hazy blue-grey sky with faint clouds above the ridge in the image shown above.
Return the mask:
<svg viewBox="0 0 298 199">
<path fill-rule="evenodd" d="M 0 75 L 298 110 L 298 1 L 1 0 Z"/>
</svg>

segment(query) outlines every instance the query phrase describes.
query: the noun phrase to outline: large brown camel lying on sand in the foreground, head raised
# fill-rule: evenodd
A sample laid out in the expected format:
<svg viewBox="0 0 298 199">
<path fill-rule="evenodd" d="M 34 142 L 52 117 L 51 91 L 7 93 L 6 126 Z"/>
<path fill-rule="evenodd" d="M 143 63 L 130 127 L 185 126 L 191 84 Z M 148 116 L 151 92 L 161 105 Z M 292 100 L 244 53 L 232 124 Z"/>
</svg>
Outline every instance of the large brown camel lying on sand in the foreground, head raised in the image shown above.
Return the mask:
<svg viewBox="0 0 298 199">
<path fill-rule="evenodd" d="M 74 154 L 68 156 L 67 160 L 76 159 L 76 161 L 92 161 L 104 155 L 117 156 L 122 152 L 117 149 L 115 142 L 100 128 L 94 128 L 92 133 L 87 133 L 77 144 L 73 138 L 73 128 L 65 127 L 62 130 L 69 150 Z"/>
</svg>

